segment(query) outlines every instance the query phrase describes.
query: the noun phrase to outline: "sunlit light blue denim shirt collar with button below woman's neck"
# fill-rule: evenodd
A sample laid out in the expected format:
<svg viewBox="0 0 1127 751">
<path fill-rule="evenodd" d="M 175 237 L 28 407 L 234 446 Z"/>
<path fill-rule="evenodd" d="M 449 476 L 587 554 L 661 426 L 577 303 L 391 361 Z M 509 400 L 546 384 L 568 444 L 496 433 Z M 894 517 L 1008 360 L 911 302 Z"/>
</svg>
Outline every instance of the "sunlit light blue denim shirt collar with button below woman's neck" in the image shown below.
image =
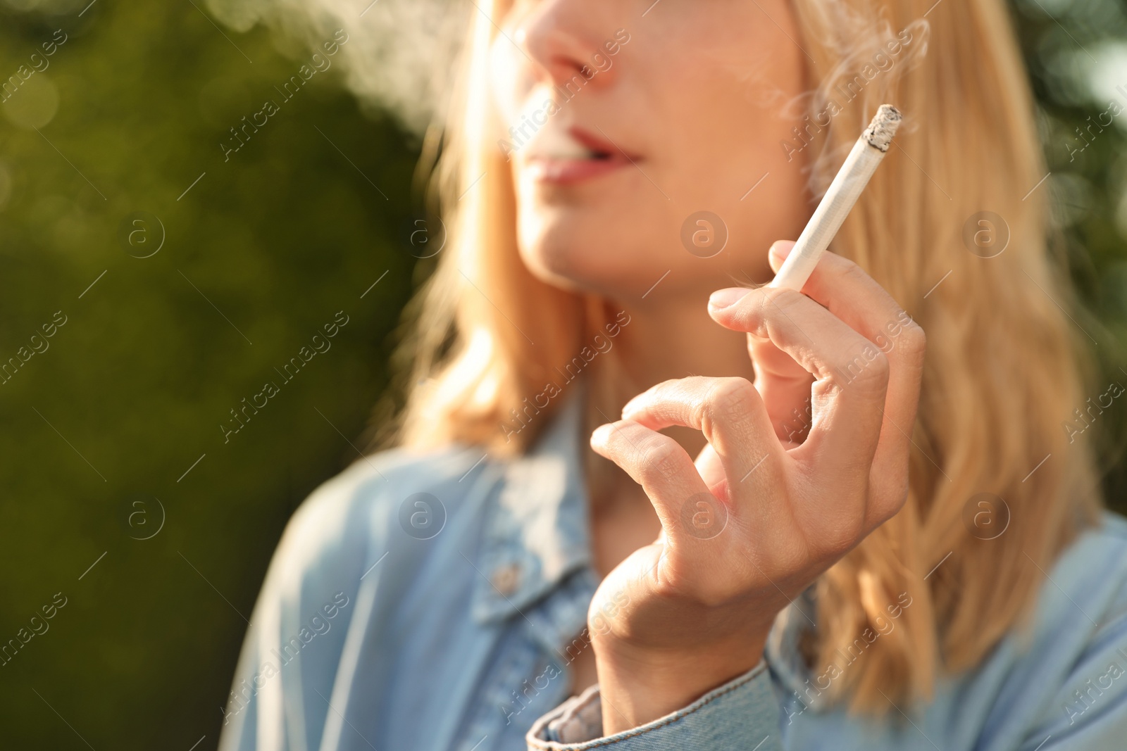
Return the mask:
<svg viewBox="0 0 1127 751">
<path fill-rule="evenodd" d="M 473 615 L 489 623 L 521 613 L 591 564 L 587 491 L 575 388 L 523 456 L 499 463 L 487 507 Z"/>
</svg>

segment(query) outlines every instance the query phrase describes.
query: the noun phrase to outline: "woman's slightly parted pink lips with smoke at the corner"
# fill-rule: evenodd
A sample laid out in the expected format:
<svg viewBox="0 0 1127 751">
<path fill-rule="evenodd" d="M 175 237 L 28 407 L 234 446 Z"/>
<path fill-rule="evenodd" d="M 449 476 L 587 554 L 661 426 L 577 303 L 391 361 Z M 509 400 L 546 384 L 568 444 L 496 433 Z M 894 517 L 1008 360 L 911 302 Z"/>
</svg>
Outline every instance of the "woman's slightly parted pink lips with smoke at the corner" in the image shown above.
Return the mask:
<svg viewBox="0 0 1127 751">
<path fill-rule="evenodd" d="M 545 126 L 527 145 L 525 164 L 536 182 L 570 185 L 607 175 L 637 162 L 610 138 L 582 128 L 557 131 Z"/>
</svg>

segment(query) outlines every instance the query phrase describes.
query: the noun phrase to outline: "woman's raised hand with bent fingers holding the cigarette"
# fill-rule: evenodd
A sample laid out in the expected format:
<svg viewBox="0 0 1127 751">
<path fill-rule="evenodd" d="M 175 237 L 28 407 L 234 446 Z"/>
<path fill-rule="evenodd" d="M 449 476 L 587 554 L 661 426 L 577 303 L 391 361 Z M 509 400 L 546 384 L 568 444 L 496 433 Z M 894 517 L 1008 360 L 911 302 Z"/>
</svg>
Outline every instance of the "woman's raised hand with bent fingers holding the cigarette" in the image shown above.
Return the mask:
<svg viewBox="0 0 1127 751">
<path fill-rule="evenodd" d="M 772 248 L 774 268 L 790 247 Z M 756 386 L 667 381 L 592 435 L 645 489 L 663 527 L 591 605 L 605 735 L 754 668 L 775 615 L 907 498 L 923 331 L 832 253 L 804 293 L 712 295 L 717 323 L 748 334 Z M 789 430 L 807 400 L 808 430 Z M 669 426 L 704 433 L 695 464 L 657 432 Z"/>
</svg>

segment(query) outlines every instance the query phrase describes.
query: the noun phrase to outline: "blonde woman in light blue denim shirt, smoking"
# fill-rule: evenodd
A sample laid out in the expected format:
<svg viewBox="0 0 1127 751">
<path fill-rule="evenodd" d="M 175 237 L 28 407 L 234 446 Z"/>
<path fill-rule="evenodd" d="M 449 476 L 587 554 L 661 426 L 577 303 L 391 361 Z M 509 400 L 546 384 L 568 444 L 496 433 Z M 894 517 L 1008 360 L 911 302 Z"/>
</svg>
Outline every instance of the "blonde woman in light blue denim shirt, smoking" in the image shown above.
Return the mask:
<svg viewBox="0 0 1127 751">
<path fill-rule="evenodd" d="M 223 748 L 1121 748 L 1002 2 L 477 7 L 400 445 L 294 516 Z M 885 101 L 835 253 L 758 286 Z"/>
</svg>

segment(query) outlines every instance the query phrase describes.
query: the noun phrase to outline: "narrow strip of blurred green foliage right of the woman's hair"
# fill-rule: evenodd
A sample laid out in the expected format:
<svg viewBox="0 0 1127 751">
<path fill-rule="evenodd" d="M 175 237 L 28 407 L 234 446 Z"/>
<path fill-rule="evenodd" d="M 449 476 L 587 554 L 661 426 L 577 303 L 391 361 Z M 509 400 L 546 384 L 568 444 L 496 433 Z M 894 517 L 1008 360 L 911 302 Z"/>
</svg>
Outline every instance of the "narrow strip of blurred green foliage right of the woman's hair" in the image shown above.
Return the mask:
<svg viewBox="0 0 1127 751">
<path fill-rule="evenodd" d="M 1042 189 L 1050 191 L 1085 309 L 1075 318 L 1088 336 L 1077 338 L 1099 360 L 1094 402 L 1112 381 L 1127 385 L 1127 6 L 1014 0 L 1012 7 L 1051 173 Z M 1127 406 L 1118 401 L 1093 423 L 1092 438 L 1107 501 L 1127 512 Z"/>
</svg>

